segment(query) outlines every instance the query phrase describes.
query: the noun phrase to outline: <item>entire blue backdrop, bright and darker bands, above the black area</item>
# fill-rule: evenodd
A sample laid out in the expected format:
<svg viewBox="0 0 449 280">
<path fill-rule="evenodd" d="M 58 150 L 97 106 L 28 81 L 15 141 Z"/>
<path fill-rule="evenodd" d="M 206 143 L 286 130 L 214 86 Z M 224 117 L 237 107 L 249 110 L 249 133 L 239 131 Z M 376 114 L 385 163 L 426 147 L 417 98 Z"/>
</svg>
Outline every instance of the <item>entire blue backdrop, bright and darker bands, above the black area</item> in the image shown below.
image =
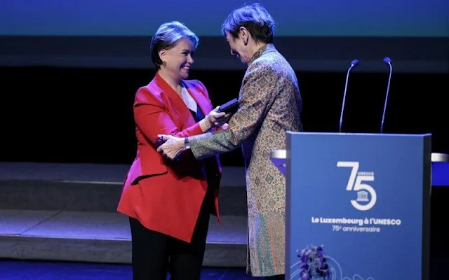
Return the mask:
<svg viewBox="0 0 449 280">
<path fill-rule="evenodd" d="M 179 20 L 201 37 L 196 69 L 243 70 L 220 27 L 246 0 L 2 0 L 0 66 L 149 68 L 148 40 Z M 261 0 L 295 71 L 449 72 L 448 0 Z"/>
</svg>

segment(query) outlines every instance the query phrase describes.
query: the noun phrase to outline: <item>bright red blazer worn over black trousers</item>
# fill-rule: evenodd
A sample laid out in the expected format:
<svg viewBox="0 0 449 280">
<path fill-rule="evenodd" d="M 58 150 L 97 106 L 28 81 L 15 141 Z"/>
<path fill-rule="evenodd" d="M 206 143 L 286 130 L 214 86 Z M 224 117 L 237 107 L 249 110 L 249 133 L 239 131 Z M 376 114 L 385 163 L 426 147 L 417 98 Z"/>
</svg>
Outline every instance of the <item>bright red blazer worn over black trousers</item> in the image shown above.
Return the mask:
<svg viewBox="0 0 449 280">
<path fill-rule="evenodd" d="M 213 110 L 206 87 L 199 80 L 183 80 L 187 90 L 206 116 Z M 181 97 L 156 73 L 154 79 L 135 94 L 137 156 L 126 174 L 117 211 L 138 219 L 150 230 L 190 242 L 207 188 L 213 188 L 218 211 L 221 165 L 218 156 L 205 161 L 185 151 L 179 161 L 164 159 L 156 151 L 157 134 L 189 137 L 202 134 Z"/>
</svg>

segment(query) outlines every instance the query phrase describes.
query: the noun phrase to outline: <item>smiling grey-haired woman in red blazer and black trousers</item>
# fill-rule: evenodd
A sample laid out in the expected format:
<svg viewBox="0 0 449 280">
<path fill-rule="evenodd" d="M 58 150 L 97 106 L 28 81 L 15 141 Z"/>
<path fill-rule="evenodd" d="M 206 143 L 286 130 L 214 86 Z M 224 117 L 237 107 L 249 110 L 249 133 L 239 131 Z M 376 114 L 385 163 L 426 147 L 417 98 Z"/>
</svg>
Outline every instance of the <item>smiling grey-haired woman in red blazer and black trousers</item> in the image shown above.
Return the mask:
<svg viewBox="0 0 449 280">
<path fill-rule="evenodd" d="M 167 22 L 150 44 L 157 72 L 135 94 L 137 156 L 117 211 L 130 219 L 133 279 L 200 279 L 210 214 L 218 211 L 218 158 L 199 161 L 190 152 L 170 161 L 157 134 L 189 137 L 220 127 L 206 87 L 186 80 L 199 38 L 180 22 Z"/>
</svg>

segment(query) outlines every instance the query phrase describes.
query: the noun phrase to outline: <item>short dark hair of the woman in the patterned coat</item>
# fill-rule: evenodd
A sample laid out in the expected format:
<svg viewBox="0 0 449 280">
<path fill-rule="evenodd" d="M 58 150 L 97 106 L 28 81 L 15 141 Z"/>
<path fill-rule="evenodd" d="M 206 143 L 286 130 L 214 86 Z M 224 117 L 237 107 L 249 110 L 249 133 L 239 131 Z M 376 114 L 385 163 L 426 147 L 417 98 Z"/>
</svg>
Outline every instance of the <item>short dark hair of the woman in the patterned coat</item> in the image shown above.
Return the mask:
<svg viewBox="0 0 449 280">
<path fill-rule="evenodd" d="M 243 6 L 230 13 L 222 24 L 222 34 L 233 38 L 239 36 L 240 27 L 245 27 L 256 42 L 273 43 L 274 20 L 260 3 Z"/>
</svg>

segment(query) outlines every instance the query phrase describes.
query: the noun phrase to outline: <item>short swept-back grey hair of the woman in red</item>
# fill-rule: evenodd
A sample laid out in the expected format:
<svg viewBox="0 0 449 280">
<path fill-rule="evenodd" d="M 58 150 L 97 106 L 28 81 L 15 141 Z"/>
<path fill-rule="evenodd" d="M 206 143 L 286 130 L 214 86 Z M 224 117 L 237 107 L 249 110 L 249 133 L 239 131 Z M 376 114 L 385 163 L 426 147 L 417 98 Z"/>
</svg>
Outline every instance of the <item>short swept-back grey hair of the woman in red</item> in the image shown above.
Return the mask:
<svg viewBox="0 0 449 280">
<path fill-rule="evenodd" d="M 181 41 L 183 38 L 192 41 L 195 50 L 198 48 L 198 36 L 181 22 L 166 22 L 157 29 L 156 34 L 153 35 L 152 41 L 149 43 L 149 52 L 152 56 L 152 62 L 157 69 L 161 69 L 162 65 L 159 51 L 173 48 L 177 42 Z"/>
</svg>

